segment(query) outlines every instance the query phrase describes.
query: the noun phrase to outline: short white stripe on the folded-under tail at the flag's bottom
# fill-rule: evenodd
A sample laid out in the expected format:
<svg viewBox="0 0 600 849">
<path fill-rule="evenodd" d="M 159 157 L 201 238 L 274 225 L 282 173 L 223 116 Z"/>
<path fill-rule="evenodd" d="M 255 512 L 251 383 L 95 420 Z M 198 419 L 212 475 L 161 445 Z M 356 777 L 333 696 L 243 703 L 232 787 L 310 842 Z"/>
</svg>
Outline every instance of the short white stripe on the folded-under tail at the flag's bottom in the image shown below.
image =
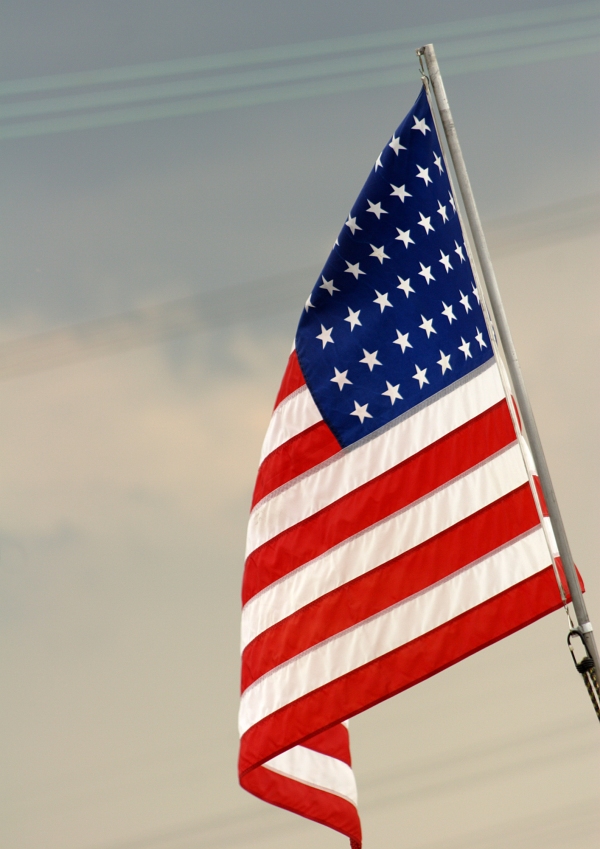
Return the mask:
<svg viewBox="0 0 600 849">
<path fill-rule="evenodd" d="M 358 803 L 356 779 L 352 768 L 337 758 L 315 752 L 304 746 L 294 746 L 263 764 L 266 769 L 278 772 L 295 781 L 318 787 L 327 793 L 341 796 L 353 805 Z"/>
</svg>

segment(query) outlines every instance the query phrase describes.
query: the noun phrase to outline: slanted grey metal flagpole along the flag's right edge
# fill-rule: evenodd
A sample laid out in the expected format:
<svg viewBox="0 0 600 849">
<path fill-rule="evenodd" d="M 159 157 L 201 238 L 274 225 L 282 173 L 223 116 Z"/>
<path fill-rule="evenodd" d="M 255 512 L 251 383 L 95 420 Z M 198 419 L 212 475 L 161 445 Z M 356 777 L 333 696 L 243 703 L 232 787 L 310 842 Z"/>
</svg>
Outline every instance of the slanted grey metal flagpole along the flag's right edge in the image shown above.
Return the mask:
<svg viewBox="0 0 600 849">
<path fill-rule="evenodd" d="M 492 266 L 490 252 L 481 226 L 479 213 L 477 212 L 473 190 L 471 189 L 471 183 L 469 181 L 469 175 L 467 174 L 462 151 L 460 149 L 458 135 L 454 126 L 454 121 L 452 120 L 452 113 L 450 112 L 450 106 L 448 104 L 448 98 L 446 97 L 446 91 L 444 89 L 444 83 L 440 74 L 433 44 L 427 44 L 425 47 L 419 48 L 419 50 L 417 50 L 417 54 L 425 60 L 428 76 L 433 88 L 433 95 L 442 121 L 446 142 L 448 144 L 456 179 L 462 195 L 467 219 L 469 221 L 475 250 L 477 251 L 485 287 L 492 307 L 494 323 L 504 350 L 506 364 L 510 373 L 517 403 L 519 405 L 523 426 L 529 440 L 531 453 L 533 454 L 539 480 L 548 506 L 548 513 L 550 515 L 550 520 L 556 536 L 558 551 L 562 560 L 569 591 L 571 593 L 579 631 L 581 632 L 588 654 L 594 661 L 596 670 L 600 673 L 600 655 L 598 654 L 598 648 L 594 639 L 594 632 L 586 610 L 583 593 L 581 592 L 581 587 L 579 585 L 575 564 L 573 563 L 573 557 L 569 547 L 569 541 L 567 539 L 558 502 L 556 500 L 556 494 L 550 478 L 550 471 L 548 469 L 548 464 L 546 463 L 540 435 L 533 416 L 533 410 L 531 409 L 527 390 L 525 389 L 523 375 L 521 374 L 517 353 L 512 341 L 508 321 L 506 319 L 506 313 L 504 312 L 504 306 L 500 297 L 500 290 L 498 288 L 496 275 Z"/>
</svg>

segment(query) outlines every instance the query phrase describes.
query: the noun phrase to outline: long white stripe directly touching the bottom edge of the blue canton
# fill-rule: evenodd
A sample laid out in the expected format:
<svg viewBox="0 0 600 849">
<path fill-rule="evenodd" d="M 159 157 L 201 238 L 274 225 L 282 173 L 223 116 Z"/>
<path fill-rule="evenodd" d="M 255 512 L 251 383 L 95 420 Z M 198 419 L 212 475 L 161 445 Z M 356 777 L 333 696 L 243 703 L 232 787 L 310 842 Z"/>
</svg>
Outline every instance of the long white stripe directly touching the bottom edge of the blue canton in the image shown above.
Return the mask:
<svg viewBox="0 0 600 849">
<path fill-rule="evenodd" d="M 260 501 L 250 515 L 246 556 L 281 531 L 436 442 L 504 398 L 498 367 L 480 372 L 355 449 L 343 451 Z"/>
</svg>

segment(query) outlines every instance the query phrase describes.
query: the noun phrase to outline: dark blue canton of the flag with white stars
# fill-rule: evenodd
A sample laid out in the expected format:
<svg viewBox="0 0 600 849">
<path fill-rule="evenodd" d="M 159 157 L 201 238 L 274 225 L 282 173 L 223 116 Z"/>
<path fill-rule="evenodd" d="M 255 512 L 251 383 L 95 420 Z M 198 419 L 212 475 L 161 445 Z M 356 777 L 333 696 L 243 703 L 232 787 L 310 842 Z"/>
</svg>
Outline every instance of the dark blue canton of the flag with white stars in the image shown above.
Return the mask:
<svg viewBox="0 0 600 849">
<path fill-rule="evenodd" d="M 342 446 L 493 356 L 424 89 L 352 207 L 296 350 Z"/>
</svg>

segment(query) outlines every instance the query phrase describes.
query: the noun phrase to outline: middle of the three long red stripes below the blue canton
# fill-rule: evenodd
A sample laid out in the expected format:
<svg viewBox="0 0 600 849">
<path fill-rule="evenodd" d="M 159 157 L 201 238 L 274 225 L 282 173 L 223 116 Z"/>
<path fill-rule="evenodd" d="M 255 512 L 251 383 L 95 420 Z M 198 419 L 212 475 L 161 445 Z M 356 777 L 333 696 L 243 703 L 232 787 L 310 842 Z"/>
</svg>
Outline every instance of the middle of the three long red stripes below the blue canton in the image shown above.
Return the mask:
<svg viewBox="0 0 600 849">
<path fill-rule="evenodd" d="M 270 669 L 462 569 L 539 525 L 529 483 L 263 631 L 242 656 L 242 690 Z"/>
</svg>

